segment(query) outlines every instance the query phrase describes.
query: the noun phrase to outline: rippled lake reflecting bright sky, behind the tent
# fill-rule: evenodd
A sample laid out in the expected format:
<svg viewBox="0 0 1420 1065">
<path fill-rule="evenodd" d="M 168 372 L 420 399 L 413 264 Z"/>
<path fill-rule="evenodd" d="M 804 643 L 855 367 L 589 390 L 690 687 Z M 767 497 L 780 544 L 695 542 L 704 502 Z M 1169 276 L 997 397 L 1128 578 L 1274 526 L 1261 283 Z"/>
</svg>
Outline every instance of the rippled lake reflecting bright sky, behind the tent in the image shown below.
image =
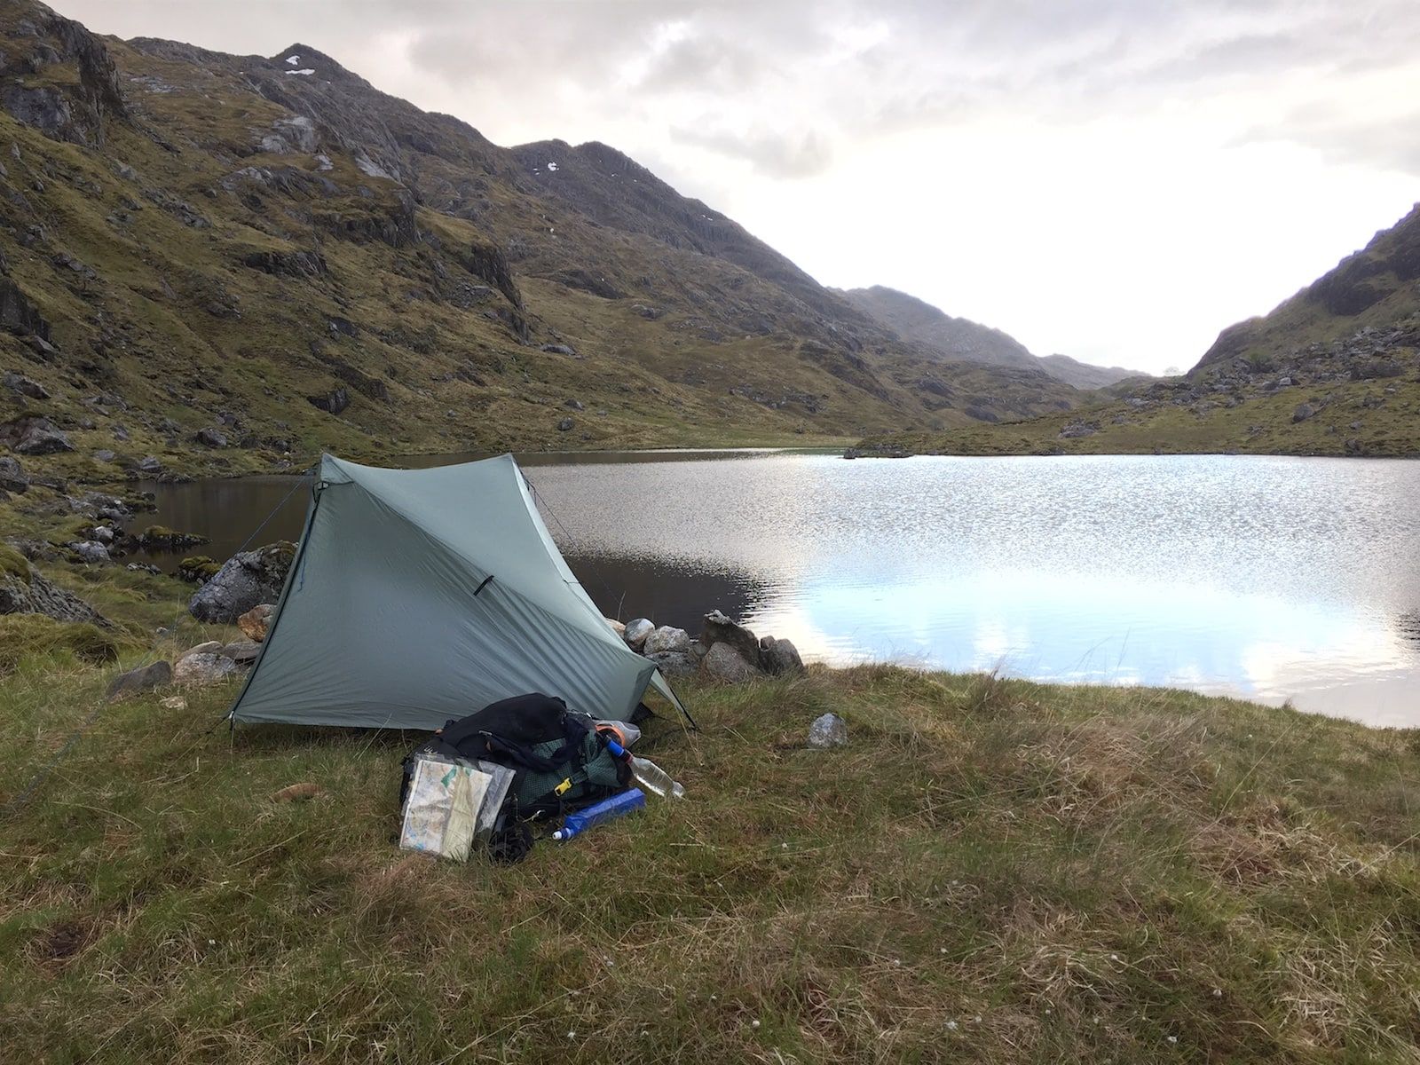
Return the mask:
<svg viewBox="0 0 1420 1065">
<path fill-rule="evenodd" d="M 464 456 L 405 459 L 437 464 Z M 720 608 L 805 659 L 1164 684 L 1420 726 L 1420 463 L 1258 456 L 525 456 L 605 613 Z M 146 484 L 223 559 L 290 477 Z M 162 559 L 172 568 L 173 558 Z"/>
</svg>

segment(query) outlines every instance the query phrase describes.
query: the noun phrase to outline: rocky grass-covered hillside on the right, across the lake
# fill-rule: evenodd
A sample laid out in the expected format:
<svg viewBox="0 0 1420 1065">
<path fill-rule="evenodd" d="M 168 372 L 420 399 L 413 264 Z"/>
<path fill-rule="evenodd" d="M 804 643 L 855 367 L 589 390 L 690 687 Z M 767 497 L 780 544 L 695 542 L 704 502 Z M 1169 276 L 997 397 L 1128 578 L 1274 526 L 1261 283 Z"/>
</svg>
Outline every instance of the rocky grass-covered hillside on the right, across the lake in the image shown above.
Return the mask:
<svg viewBox="0 0 1420 1065">
<path fill-rule="evenodd" d="M 1001 426 L 902 432 L 868 454 L 1227 452 L 1420 457 L 1420 206 L 1181 376 Z"/>
</svg>

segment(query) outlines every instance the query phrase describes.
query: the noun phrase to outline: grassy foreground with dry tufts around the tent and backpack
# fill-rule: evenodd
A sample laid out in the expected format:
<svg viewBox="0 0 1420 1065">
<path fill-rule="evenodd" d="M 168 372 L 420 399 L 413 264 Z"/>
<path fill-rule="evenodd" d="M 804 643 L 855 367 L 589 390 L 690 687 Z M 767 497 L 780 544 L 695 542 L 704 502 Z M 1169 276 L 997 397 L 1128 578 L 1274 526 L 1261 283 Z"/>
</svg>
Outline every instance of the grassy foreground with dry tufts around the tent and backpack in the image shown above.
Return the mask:
<svg viewBox="0 0 1420 1065">
<path fill-rule="evenodd" d="M 0 799 L 111 673 L 0 679 Z M 412 736 L 168 694 L 4 825 L 6 1059 L 1420 1059 L 1416 733 L 893 667 L 692 687 L 703 731 L 648 744 L 683 804 L 491 868 L 393 848 Z M 852 744 L 802 750 L 828 710 Z"/>
</svg>

